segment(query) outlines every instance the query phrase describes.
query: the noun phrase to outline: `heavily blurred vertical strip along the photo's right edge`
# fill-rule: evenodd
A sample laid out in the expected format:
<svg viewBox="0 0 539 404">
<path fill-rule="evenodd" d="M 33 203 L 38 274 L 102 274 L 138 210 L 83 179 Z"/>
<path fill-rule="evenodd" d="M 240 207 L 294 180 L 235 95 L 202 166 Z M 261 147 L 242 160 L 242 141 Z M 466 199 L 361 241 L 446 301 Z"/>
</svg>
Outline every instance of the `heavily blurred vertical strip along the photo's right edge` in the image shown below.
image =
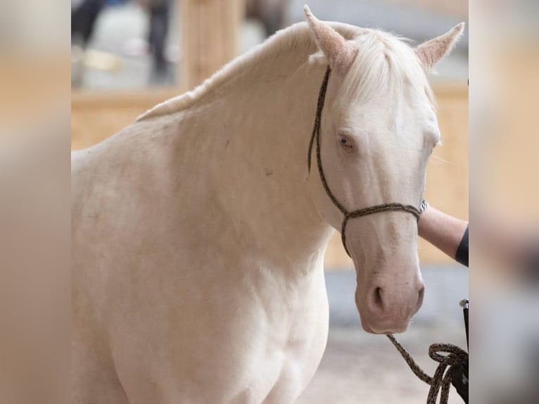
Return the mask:
<svg viewBox="0 0 539 404">
<path fill-rule="evenodd" d="M 539 4 L 470 13 L 471 402 L 539 403 Z"/>
</svg>

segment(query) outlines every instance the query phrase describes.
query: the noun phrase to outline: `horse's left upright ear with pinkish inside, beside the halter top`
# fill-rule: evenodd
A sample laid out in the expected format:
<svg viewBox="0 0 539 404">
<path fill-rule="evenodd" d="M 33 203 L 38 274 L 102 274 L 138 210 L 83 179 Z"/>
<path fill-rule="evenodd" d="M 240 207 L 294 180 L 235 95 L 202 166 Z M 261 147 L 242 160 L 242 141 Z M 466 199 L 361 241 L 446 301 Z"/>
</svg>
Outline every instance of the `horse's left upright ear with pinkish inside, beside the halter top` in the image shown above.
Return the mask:
<svg viewBox="0 0 539 404">
<path fill-rule="evenodd" d="M 328 24 L 322 23 L 312 15 L 308 6 L 305 6 L 303 11 L 310 29 L 315 34 L 319 49 L 327 58 L 329 67 L 338 74 L 345 75 L 357 55 L 357 48 Z"/>
</svg>

